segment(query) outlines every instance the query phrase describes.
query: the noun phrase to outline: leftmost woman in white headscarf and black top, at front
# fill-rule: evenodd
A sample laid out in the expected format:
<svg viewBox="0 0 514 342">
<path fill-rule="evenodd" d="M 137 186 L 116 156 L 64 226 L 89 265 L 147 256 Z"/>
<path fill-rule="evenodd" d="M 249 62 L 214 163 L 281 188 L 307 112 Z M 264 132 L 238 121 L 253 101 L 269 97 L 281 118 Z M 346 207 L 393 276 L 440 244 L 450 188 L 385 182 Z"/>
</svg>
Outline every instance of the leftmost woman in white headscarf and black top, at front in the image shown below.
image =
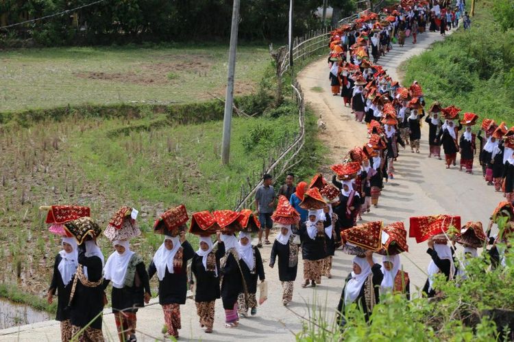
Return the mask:
<svg viewBox="0 0 514 342">
<path fill-rule="evenodd" d="M 57 291 L 57 315 L 56 320 L 60 321 L 61 340 L 69 341 L 72 337 L 69 313 L 65 310 L 69 304 L 71 279 L 79 265 L 77 241 L 75 237 L 62 238 L 62 250 L 57 254 L 56 261 L 53 263 L 53 276 L 50 288 L 47 293 L 49 304 L 53 302 L 53 295 Z"/>
</svg>

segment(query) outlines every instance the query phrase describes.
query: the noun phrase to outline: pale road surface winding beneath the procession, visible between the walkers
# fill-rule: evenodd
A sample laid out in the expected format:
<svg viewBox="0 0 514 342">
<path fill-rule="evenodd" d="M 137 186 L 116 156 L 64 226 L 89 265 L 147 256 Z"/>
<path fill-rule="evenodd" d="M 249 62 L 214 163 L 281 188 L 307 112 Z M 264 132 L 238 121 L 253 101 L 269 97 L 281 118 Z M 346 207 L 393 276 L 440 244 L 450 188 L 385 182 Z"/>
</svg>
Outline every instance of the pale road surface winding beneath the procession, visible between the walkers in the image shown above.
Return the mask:
<svg viewBox="0 0 514 342">
<path fill-rule="evenodd" d="M 420 53 L 437 40 L 441 40 L 439 34 L 423 34 L 419 37 L 419 44 L 413 46 L 411 41 L 404 48 L 395 46 L 386 57 L 382 57 L 380 64 L 388 70 L 393 79 L 397 79 L 395 68 L 406 58 Z M 328 83 L 328 67 L 326 58 L 308 66 L 299 76 L 299 81 L 305 92 L 306 100 L 313 108 L 322 114 L 323 120 L 328 123 L 328 131 L 323 135 L 330 147 L 330 154 L 334 160 L 341 159 L 348 148 L 362 146 L 366 141 L 365 127 L 358 124 L 352 118 L 350 110 L 343 108 L 342 98 L 330 94 Z M 420 80 L 422 85 L 422 80 Z M 323 92 L 311 90 L 321 87 Z M 378 209 L 365 215 L 365 220 L 383 220 L 384 222 L 404 221 L 415 215 L 429 215 L 437 213 L 452 213 L 461 215 L 463 222 L 469 220 L 481 220 L 487 224 L 489 215 L 495 205 L 502 200 L 497 194 L 487 187 L 482 181 L 481 172 L 474 175 L 464 174 L 458 170 L 445 170 L 443 161 L 428 159 L 428 144 L 426 143 L 428 132 L 423 129 L 421 139 L 421 154 L 413 154 L 410 151 L 401 150 L 400 157 L 395 163 L 395 179 L 384 188 Z M 408 225 L 406 226 L 408 228 Z M 255 241 L 254 241 L 255 242 Z M 411 274 L 411 283 L 421 287 L 425 280 L 426 266 L 430 261 L 426 254 L 426 244 L 418 246 L 413 239 L 409 239 L 410 252 L 402 257 L 404 269 Z M 236 341 L 238 339 L 251 339 L 261 341 L 293 341 L 293 332 L 302 328 L 302 321 L 297 315 L 308 317 L 310 304 L 316 301 L 318 307 L 328 307 L 328 317 L 333 317 L 334 308 L 339 302 L 343 280 L 351 271 L 352 257 L 336 252 L 334 258 L 333 278 L 323 278 L 321 286 L 317 289 L 302 289 L 302 263 L 300 261 L 293 303 L 289 308 L 284 308 L 281 302 L 281 288 L 278 281 L 278 269 L 270 269 L 267 266 L 271 248 L 262 248 L 262 256 L 265 259 L 265 271 L 269 281 L 269 300 L 258 308 L 258 315 L 247 319 L 241 319 L 240 327 L 236 329 L 223 328 L 224 314 L 221 300 L 217 301 L 215 332 L 205 334 L 199 328 L 195 304 L 193 300 L 187 300 L 182 306 L 182 330 L 181 340 L 204 341 Z M 380 261 L 380 257 L 376 258 Z M 416 265 L 417 266 L 416 266 Z M 419 267 L 419 268 L 418 268 Z M 411 285 L 411 291 L 415 288 Z M 162 311 L 158 304 L 147 306 L 138 313 L 139 341 L 154 341 L 154 338 L 162 338 Z M 290 309 L 290 310 L 289 310 Z M 293 314 L 297 313 L 297 315 Z M 104 316 L 104 333 L 111 341 L 116 341 L 114 317 Z M 7 330 L 0 330 L 0 341 L 59 341 L 58 322 L 50 321 L 32 326 L 22 326 Z"/>
</svg>

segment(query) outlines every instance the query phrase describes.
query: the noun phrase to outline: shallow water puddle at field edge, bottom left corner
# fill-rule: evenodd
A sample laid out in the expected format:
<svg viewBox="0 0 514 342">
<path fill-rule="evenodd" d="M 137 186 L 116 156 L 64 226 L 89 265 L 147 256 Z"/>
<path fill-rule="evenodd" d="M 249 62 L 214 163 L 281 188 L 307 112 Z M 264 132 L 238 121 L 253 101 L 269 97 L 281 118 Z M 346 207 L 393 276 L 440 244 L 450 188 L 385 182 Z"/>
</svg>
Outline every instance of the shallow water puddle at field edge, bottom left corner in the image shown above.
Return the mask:
<svg viewBox="0 0 514 342">
<path fill-rule="evenodd" d="M 0 329 L 23 326 L 23 324 L 32 324 L 48 319 L 50 319 L 49 313 L 0 298 Z"/>
</svg>

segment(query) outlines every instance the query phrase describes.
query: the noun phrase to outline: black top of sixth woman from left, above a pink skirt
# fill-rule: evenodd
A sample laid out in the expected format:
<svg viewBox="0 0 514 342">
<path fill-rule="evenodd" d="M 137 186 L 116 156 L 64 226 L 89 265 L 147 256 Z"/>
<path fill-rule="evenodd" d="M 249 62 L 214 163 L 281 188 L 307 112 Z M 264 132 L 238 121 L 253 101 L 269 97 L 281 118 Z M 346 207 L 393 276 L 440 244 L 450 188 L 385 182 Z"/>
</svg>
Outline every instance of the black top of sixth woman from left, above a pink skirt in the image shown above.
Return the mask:
<svg viewBox="0 0 514 342">
<path fill-rule="evenodd" d="M 218 243 L 218 250 L 216 257 L 221 259 L 225 255 L 225 244 L 223 242 Z M 239 293 L 244 291 L 243 288 L 243 276 L 239 269 L 238 263 L 232 253 L 228 254 L 225 267 L 221 267 L 221 274 L 223 274 L 223 280 L 221 280 L 221 300 L 223 301 L 223 308 L 225 310 L 232 310 L 234 304 L 237 301 Z M 244 263 L 244 261 L 243 261 Z"/>
</svg>

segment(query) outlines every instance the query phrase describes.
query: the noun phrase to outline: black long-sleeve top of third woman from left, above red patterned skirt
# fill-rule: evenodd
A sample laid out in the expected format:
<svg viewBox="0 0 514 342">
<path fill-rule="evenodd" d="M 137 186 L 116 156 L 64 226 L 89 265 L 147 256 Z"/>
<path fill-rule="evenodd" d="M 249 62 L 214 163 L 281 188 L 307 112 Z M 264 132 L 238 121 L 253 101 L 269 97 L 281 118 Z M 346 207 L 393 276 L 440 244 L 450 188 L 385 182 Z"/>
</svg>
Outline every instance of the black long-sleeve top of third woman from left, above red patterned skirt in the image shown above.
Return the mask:
<svg viewBox="0 0 514 342">
<path fill-rule="evenodd" d="M 132 258 L 138 257 L 136 254 Z M 132 262 L 132 258 L 130 263 Z M 106 289 L 110 280 L 103 280 L 103 289 Z M 151 295 L 150 280 L 148 277 L 145 263 L 141 261 L 136 265 L 134 273 L 134 285 L 132 287 L 125 286 L 121 289 L 112 287 L 111 302 L 112 312 L 137 312 L 138 308 L 145 306 L 145 292 Z"/>
</svg>

